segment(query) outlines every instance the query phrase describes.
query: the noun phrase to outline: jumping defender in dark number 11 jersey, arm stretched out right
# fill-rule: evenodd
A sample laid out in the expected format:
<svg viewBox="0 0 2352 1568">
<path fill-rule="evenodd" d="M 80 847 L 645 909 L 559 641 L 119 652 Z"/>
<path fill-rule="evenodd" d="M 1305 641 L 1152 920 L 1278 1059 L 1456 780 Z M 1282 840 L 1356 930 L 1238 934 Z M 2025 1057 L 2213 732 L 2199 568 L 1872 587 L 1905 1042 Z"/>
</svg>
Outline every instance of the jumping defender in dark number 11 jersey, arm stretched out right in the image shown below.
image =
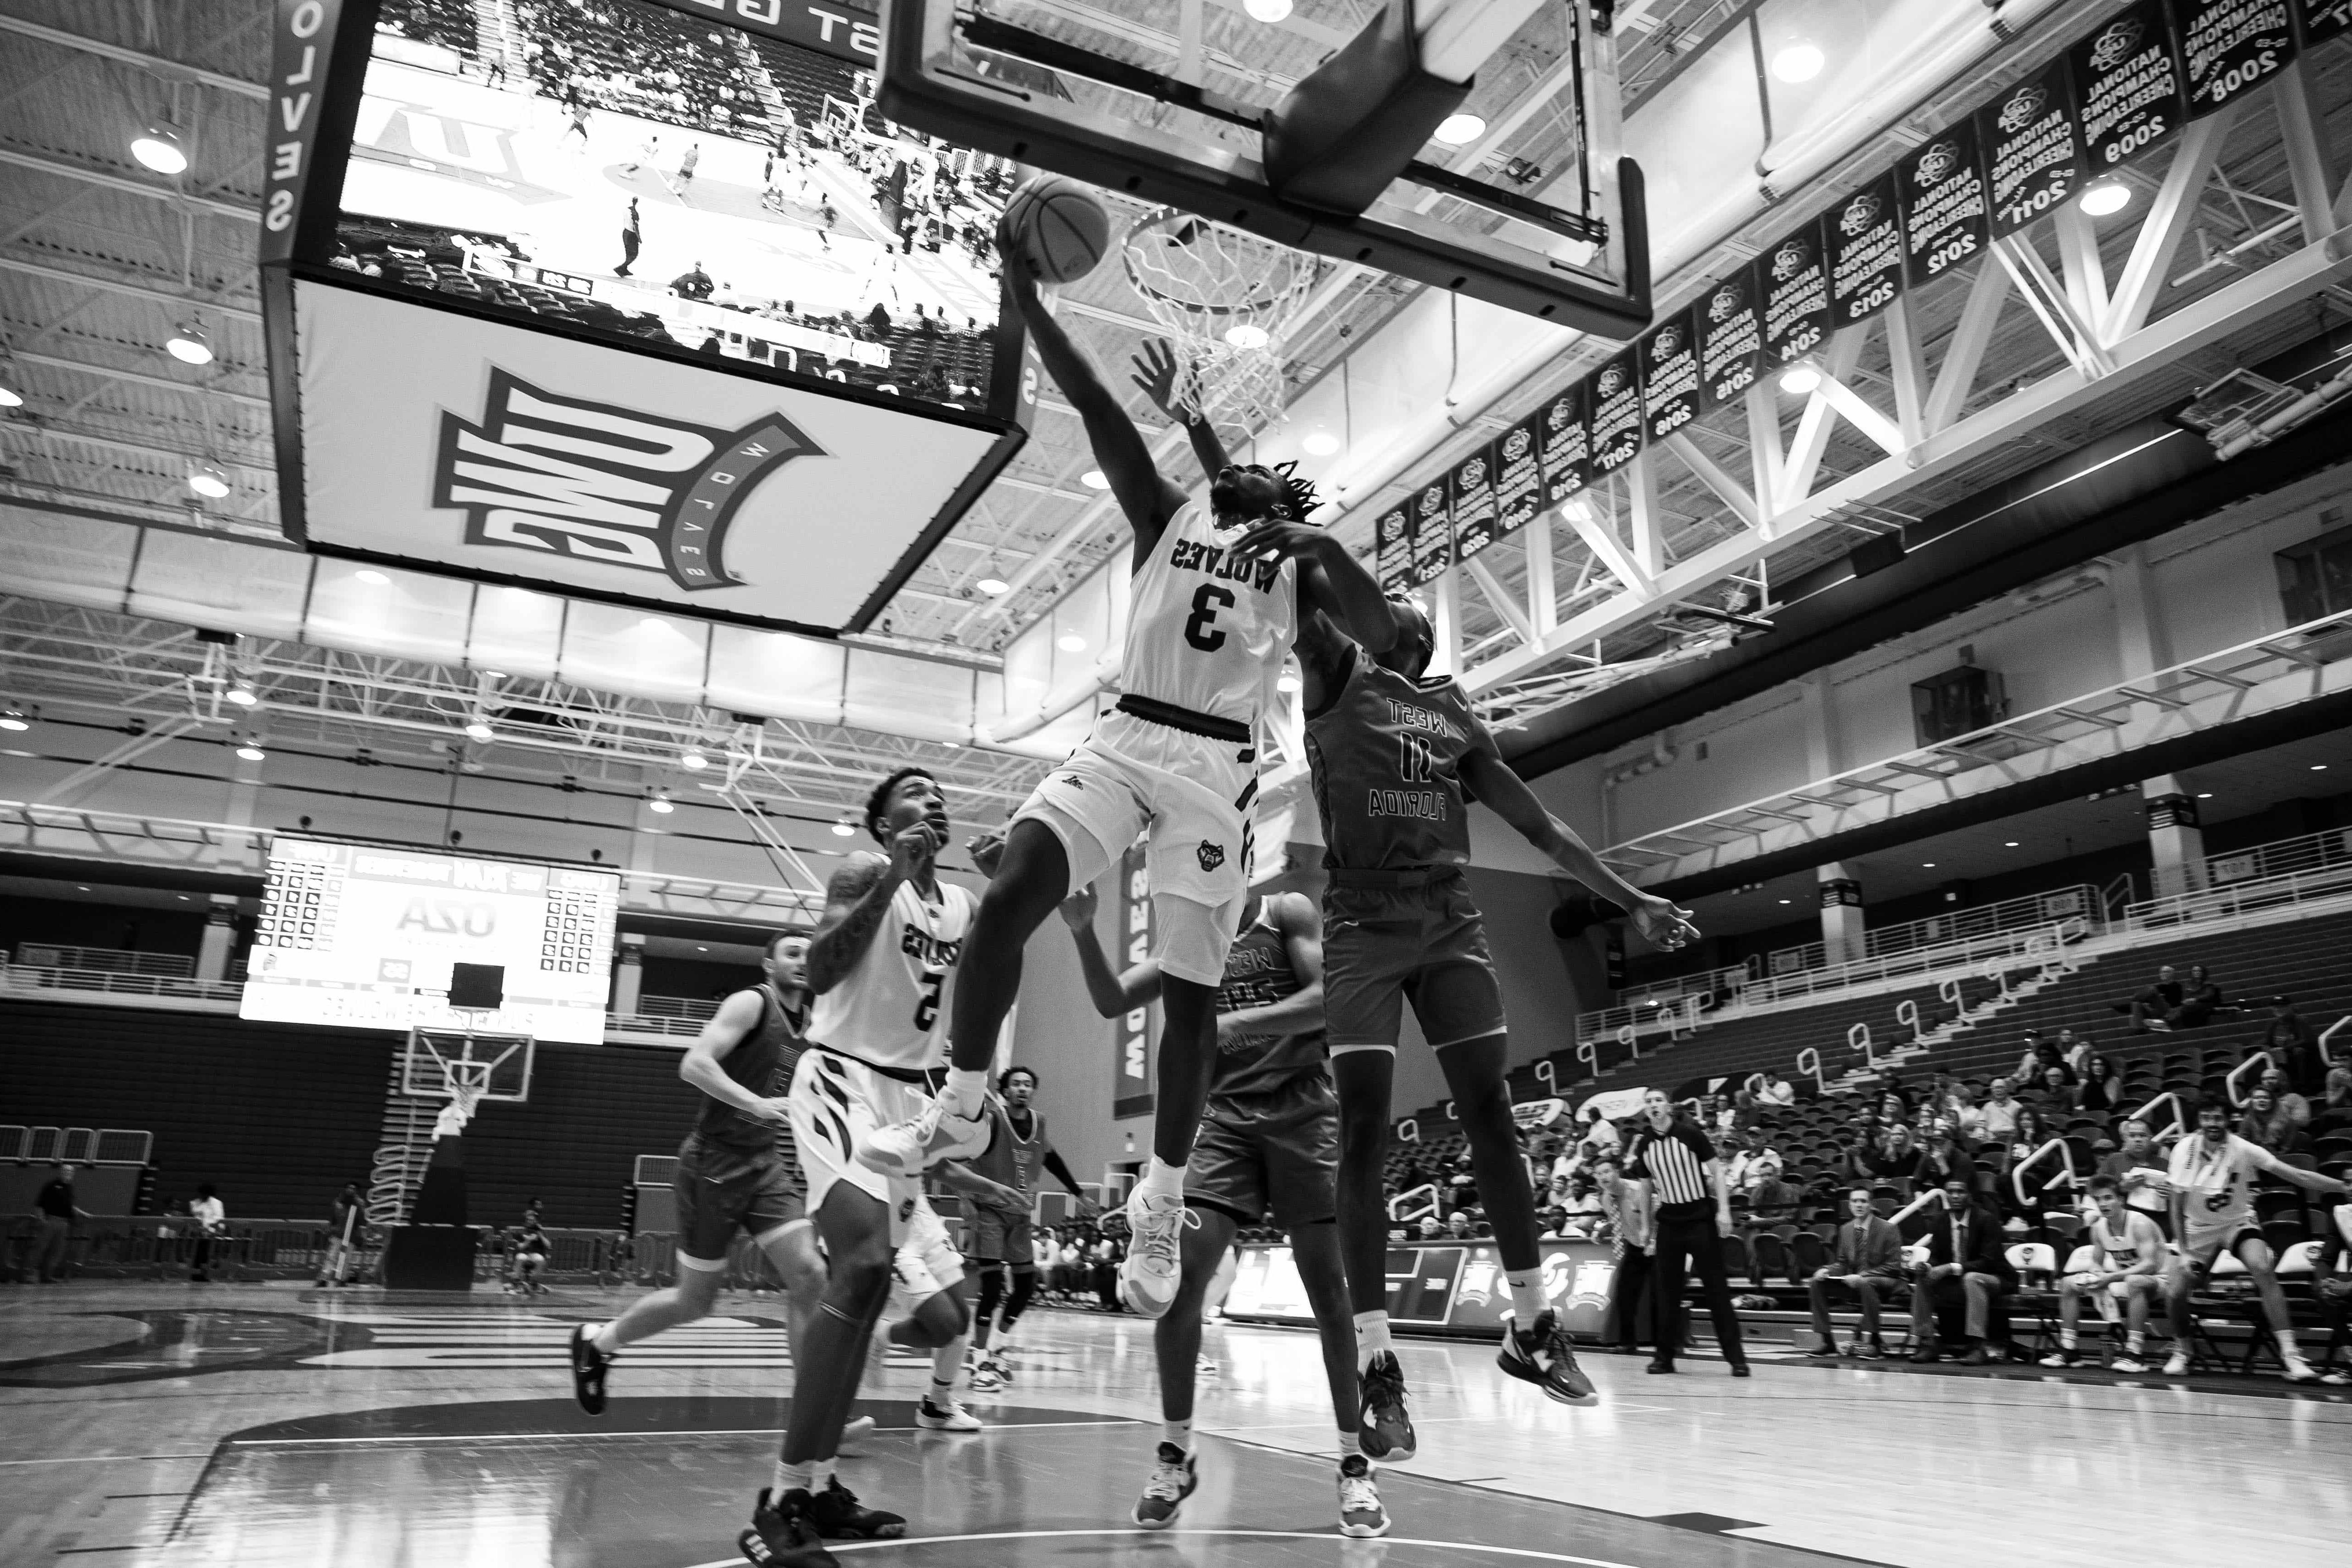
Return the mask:
<svg viewBox="0 0 2352 1568">
<path fill-rule="evenodd" d="M 1277 520 L 1261 524 L 1244 548 L 1294 555 L 1312 548 L 1303 534 Z M 1378 642 L 1357 646 L 1327 618 L 1315 618 L 1301 630 L 1298 668 L 1331 875 L 1322 917 L 1324 1027 L 1341 1107 L 1338 1234 L 1357 1307 L 1364 1453 L 1383 1460 L 1411 1458 L 1416 1446 L 1404 1373 L 1390 1347 L 1388 1208 L 1381 1201 L 1388 1095 L 1406 1001 L 1444 1067 L 1510 1284 L 1510 1326 L 1498 1361 L 1562 1403 L 1595 1396 L 1559 1314 L 1543 1300 L 1536 1192 L 1519 1159 L 1503 1081 L 1510 1060 L 1503 992 L 1463 875 L 1470 799 L 1484 802 L 1566 875 L 1623 905 L 1661 947 L 1679 947 L 1696 931 L 1686 910 L 1602 865 L 1510 771 L 1461 682 L 1428 675 L 1435 635 L 1418 607 L 1390 599 L 1374 630 Z"/>
</svg>

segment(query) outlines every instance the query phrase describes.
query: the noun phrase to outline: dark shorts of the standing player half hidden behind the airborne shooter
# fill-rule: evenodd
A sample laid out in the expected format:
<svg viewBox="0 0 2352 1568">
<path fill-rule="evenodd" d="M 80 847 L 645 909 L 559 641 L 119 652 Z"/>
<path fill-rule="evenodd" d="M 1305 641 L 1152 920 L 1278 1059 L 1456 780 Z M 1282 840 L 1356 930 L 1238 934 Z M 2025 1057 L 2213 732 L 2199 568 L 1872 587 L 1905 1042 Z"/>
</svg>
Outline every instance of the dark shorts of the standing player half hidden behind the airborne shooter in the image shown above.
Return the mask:
<svg viewBox="0 0 2352 1568">
<path fill-rule="evenodd" d="M 1254 1095 L 1209 1095 L 1183 1201 L 1284 1229 L 1338 1215 L 1338 1098 L 1322 1072 Z"/>
</svg>

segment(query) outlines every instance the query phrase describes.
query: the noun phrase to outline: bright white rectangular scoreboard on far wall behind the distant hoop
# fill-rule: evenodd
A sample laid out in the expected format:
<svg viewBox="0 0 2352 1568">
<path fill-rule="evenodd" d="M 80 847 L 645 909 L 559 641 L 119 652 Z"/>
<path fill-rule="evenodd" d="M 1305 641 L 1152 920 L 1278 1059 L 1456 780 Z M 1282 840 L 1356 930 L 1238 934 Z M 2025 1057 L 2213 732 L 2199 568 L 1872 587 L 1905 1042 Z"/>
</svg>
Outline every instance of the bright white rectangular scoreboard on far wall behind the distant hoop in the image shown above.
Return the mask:
<svg viewBox="0 0 2352 1568">
<path fill-rule="evenodd" d="M 604 1039 L 621 877 L 576 865 L 278 837 L 240 1018 Z M 449 966 L 503 1006 L 449 1009 Z"/>
</svg>

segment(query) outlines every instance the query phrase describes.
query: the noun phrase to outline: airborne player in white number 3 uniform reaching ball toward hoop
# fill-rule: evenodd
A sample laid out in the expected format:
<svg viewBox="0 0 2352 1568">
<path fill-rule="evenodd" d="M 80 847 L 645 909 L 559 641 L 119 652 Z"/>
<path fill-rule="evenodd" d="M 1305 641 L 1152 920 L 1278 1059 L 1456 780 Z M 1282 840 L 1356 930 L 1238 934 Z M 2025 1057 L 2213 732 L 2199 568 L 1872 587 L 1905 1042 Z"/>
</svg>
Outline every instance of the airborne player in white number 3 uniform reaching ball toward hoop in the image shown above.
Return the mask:
<svg viewBox="0 0 2352 1568">
<path fill-rule="evenodd" d="M 1256 724 L 1303 614 L 1345 621 L 1388 607 L 1371 574 L 1336 541 L 1289 559 L 1232 550 L 1254 524 L 1298 520 L 1315 491 L 1289 473 L 1225 461 L 1197 409 L 1176 409 L 1174 362 L 1141 364 L 1138 381 L 1185 423 L 1209 473 L 1209 503 L 1185 498 L 1152 463 L 1143 433 L 1103 386 L 1084 350 L 1047 315 L 1018 240 L 1002 226 L 1004 289 L 1063 397 L 1087 421 L 1094 461 L 1134 529 L 1134 592 L 1117 712 L 1054 769 L 1014 813 L 1004 851 L 971 926 L 955 992 L 953 1070 L 936 1105 L 882 1128 L 858 1157 L 913 1175 L 969 1159 L 988 1140 L 988 1063 L 997 1027 L 1021 994 L 1021 950 L 1070 889 L 1091 886 L 1138 837 L 1152 896 L 1152 952 L 1162 976 L 1152 1159 L 1127 1201 L 1131 1232 L 1120 1265 L 1129 1312 L 1160 1316 L 1176 1295 L 1183 1171 L 1216 1067 L 1216 987 L 1240 926 L 1249 879 L 1249 806 L 1258 792 Z"/>
</svg>

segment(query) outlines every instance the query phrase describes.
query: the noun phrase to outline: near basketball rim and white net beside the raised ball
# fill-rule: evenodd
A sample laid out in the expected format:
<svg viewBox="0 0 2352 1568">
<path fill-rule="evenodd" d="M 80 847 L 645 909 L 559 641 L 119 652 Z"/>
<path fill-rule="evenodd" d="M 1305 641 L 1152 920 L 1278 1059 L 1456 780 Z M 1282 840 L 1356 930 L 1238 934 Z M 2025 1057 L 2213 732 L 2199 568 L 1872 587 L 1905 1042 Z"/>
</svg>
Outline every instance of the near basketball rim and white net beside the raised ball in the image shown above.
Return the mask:
<svg viewBox="0 0 2352 1568">
<path fill-rule="evenodd" d="M 1251 430 L 1289 402 L 1282 339 L 1324 261 L 1176 207 L 1127 230 L 1127 282 L 1176 348 L 1176 397 Z"/>
</svg>

